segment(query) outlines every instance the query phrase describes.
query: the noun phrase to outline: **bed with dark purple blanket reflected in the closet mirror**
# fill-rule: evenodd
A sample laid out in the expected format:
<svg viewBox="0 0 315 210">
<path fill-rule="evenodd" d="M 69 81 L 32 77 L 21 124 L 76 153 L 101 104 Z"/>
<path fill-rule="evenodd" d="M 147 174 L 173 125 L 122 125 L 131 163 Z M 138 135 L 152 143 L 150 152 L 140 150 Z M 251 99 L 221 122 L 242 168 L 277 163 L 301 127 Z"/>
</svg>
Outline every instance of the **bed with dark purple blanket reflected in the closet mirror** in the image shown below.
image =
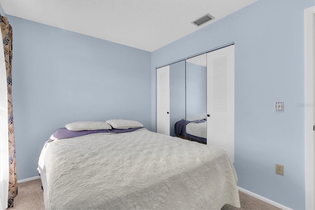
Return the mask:
<svg viewBox="0 0 315 210">
<path fill-rule="evenodd" d="M 207 120 L 205 114 L 187 116 L 175 123 L 175 134 L 182 138 L 207 143 Z"/>
</svg>

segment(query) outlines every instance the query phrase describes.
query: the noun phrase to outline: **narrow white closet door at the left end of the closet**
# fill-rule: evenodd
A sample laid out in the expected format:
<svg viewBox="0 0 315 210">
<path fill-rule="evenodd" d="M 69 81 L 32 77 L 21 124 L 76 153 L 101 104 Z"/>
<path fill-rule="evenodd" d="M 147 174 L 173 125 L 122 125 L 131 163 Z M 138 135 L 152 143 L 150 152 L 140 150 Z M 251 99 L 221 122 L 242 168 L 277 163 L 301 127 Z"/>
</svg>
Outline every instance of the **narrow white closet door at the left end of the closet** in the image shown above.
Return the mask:
<svg viewBox="0 0 315 210">
<path fill-rule="evenodd" d="M 169 66 L 157 69 L 157 133 L 170 134 Z"/>
</svg>

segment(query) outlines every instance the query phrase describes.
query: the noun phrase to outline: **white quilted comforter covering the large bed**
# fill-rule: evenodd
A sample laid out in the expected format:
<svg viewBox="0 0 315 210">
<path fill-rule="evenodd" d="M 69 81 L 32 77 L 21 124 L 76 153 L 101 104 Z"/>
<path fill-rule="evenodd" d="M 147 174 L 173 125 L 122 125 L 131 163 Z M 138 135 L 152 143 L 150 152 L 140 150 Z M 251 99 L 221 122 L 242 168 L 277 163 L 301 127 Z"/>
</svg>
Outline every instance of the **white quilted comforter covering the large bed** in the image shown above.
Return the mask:
<svg viewBox="0 0 315 210">
<path fill-rule="evenodd" d="M 146 129 L 52 141 L 38 169 L 46 209 L 240 207 L 223 150 Z"/>
</svg>

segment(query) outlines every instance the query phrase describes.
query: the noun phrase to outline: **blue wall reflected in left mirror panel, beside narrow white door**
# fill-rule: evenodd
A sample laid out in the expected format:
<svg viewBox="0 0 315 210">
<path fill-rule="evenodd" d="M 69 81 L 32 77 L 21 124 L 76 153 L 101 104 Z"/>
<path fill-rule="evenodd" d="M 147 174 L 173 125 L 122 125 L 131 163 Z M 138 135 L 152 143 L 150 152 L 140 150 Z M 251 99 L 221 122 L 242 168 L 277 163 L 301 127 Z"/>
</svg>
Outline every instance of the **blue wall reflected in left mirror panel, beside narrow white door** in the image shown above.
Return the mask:
<svg viewBox="0 0 315 210">
<path fill-rule="evenodd" d="M 170 65 L 170 136 L 175 137 L 175 123 L 185 117 L 185 61 Z"/>
</svg>

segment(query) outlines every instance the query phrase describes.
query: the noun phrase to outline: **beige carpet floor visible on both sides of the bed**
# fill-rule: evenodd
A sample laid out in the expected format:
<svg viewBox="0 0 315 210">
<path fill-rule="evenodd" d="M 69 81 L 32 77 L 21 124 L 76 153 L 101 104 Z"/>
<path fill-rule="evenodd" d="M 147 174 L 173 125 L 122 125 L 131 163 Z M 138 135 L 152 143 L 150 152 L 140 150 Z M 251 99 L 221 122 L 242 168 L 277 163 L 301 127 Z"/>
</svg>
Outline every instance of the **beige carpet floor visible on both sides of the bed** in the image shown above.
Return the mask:
<svg viewBox="0 0 315 210">
<path fill-rule="evenodd" d="M 44 210 L 40 179 L 18 184 L 19 194 L 14 199 L 14 210 Z M 241 208 L 225 205 L 221 210 L 280 210 L 259 199 L 240 192 Z"/>
</svg>

